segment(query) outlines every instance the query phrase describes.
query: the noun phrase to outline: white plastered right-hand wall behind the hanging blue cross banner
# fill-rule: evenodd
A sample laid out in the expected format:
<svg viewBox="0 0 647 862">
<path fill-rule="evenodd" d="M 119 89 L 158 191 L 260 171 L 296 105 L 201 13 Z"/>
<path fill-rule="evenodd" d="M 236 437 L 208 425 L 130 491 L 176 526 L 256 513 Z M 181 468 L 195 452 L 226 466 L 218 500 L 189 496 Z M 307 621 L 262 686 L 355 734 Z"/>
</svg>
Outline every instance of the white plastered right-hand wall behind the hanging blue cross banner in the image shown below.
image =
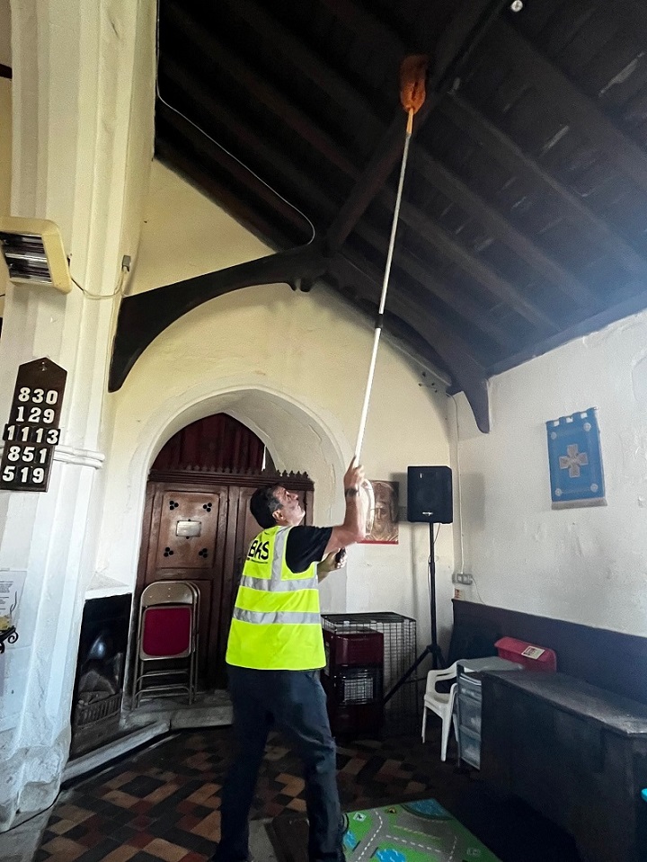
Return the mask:
<svg viewBox="0 0 647 862">
<path fill-rule="evenodd" d="M 492 380 L 483 436 L 461 396 L 465 597 L 647 635 L 647 315 Z M 551 509 L 545 422 L 598 408 L 607 506 Z"/>
</svg>

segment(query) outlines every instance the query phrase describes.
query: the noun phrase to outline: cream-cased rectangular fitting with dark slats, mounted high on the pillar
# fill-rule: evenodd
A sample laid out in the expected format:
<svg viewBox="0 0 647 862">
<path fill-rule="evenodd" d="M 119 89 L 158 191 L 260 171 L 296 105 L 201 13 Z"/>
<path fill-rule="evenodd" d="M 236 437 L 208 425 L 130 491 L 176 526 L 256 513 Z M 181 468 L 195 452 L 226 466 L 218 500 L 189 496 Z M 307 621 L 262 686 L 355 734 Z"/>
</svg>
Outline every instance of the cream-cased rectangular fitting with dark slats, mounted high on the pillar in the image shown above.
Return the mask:
<svg viewBox="0 0 647 862">
<path fill-rule="evenodd" d="M 61 293 L 72 289 L 63 240 L 53 221 L 0 217 L 0 248 L 15 284 L 42 284 Z"/>
</svg>

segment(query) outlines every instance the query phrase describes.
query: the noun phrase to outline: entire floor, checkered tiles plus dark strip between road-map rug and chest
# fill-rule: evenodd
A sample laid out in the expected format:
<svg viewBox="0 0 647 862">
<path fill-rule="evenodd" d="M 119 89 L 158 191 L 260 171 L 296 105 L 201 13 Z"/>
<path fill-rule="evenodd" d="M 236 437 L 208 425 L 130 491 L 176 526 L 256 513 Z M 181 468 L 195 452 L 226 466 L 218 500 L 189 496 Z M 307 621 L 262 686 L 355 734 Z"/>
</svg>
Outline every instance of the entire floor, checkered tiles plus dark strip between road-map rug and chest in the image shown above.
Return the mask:
<svg viewBox="0 0 647 862">
<path fill-rule="evenodd" d="M 341 803 L 346 811 L 434 797 L 501 862 L 579 862 L 572 840 L 514 801 L 485 792 L 477 776 L 439 760 L 439 723 L 418 736 L 341 743 Z M 231 762 L 228 727 L 185 732 L 63 791 L 36 862 L 205 862 L 220 826 L 220 789 Z M 305 858 L 300 764 L 272 735 L 252 817 L 273 821 L 283 862 Z M 259 862 L 263 862 L 262 859 Z"/>
</svg>

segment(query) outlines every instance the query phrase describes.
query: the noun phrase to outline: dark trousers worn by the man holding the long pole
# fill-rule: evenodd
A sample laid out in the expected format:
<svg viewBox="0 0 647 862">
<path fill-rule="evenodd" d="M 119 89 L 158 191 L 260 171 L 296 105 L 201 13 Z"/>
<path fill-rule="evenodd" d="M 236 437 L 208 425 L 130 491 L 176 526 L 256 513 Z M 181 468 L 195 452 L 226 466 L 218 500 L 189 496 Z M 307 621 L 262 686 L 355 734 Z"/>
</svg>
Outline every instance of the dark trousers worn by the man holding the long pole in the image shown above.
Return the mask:
<svg viewBox="0 0 647 862">
<path fill-rule="evenodd" d="M 238 750 L 222 792 L 216 862 L 244 862 L 248 817 L 270 728 L 287 738 L 304 764 L 310 862 L 343 862 L 335 743 L 319 671 L 228 667 Z"/>
</svg>

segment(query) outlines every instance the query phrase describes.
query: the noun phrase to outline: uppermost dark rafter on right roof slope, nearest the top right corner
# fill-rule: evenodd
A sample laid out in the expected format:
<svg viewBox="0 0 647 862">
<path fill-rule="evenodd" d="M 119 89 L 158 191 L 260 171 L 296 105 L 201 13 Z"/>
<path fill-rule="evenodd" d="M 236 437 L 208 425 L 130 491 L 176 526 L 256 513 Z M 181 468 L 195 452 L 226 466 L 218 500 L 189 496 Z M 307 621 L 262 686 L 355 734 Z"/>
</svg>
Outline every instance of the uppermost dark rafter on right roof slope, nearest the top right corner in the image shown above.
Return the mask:
<svg viewBox="0 0 647 862">
<path fill-rule="evenodd" d="M 515 71 L 526 76 L 548 102 L 559 105 L 565 120 L 583 132 L 640 189 L 647 191 L 647 153 L 618 129 L 570 78 L 502 19 L 490 31 L 487 43 L 501 56 L 510 58 Z"/>
</svg>

